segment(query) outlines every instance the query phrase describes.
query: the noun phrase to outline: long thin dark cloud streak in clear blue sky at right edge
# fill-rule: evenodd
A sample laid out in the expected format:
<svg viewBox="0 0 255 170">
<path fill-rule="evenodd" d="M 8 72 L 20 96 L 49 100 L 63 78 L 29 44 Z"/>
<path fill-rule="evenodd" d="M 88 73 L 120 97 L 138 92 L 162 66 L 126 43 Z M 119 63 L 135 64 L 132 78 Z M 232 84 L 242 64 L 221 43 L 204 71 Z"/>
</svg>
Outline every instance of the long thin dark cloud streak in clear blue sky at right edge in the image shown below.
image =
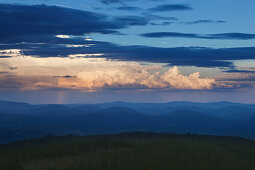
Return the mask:
<svg viewBox="0 0 255 170">
<path fill-rule="evenodd" d="M 200 39 L 220 39 L 220 40 L 249 40 L 255 39 L 255 34 L 245 33 L 223 33 L 223 34 L 194 34 L 179 32 L 152 32 L 141 34 L 143 37 L 149 38 L 200 38 Z"/>
</svg>

